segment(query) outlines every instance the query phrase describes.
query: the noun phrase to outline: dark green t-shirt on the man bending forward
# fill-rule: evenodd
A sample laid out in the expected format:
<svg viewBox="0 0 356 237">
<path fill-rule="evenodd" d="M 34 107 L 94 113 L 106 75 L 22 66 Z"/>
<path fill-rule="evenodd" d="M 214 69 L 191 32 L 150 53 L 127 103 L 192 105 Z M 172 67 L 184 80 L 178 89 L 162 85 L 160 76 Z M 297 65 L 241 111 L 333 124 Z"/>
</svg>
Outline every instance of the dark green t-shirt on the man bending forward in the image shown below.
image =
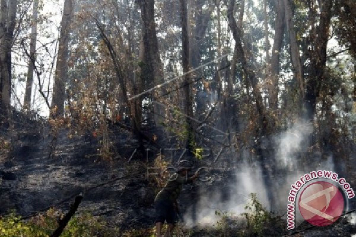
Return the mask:
<svg viewBox="0 0 356 237">
<path fill-rule="evenodd" d="M 172 203 L 175 203 L 182 190 L 183 184 L 192 183 L 192 181 L 192 177 L 188 178 L 178 173 L 172 174 L 166 185 L 164 185 L 162 190 L 157 194 L 155 201 L 171 200 Z"/>
</svg>

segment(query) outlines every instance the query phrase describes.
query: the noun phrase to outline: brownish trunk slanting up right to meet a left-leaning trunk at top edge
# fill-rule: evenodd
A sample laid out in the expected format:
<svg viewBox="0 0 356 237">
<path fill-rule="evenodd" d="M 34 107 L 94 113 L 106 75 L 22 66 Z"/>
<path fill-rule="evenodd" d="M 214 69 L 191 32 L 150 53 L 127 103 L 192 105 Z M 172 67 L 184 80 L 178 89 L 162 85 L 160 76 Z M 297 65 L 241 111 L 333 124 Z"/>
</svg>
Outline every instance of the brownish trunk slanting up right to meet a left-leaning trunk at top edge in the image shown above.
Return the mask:
<svg viewBox="0 0 356 237">
<path fill-rule="evenodd" d="M 272 87 L 269 87 L 269 108 L 278 108 L 278 76 L 279 76 L 279 58 L 281 55 L 284 27 L 286 25 L 284 21 L 285 9 L 283 0 L 277 1 L 277 17 L 274 29 L 274 42 L 272 48 L 271 58 L 271 79 Z"/>
</svg>

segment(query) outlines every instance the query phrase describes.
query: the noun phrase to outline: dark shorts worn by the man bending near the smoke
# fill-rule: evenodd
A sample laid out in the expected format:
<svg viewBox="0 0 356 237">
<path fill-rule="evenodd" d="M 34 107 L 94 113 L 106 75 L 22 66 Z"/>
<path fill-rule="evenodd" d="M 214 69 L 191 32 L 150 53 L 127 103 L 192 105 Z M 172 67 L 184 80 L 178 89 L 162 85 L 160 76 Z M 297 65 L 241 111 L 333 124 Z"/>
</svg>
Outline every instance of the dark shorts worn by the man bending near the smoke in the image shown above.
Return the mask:
<svg viewBox="0 0 356 237">
<path fill-rule="evenodd" d="M 167 224 L 174 224 L 176 212 L 170 200 L 158 200 L 155 202 L 156 223 L 167 221 Z"/>
</svg>

